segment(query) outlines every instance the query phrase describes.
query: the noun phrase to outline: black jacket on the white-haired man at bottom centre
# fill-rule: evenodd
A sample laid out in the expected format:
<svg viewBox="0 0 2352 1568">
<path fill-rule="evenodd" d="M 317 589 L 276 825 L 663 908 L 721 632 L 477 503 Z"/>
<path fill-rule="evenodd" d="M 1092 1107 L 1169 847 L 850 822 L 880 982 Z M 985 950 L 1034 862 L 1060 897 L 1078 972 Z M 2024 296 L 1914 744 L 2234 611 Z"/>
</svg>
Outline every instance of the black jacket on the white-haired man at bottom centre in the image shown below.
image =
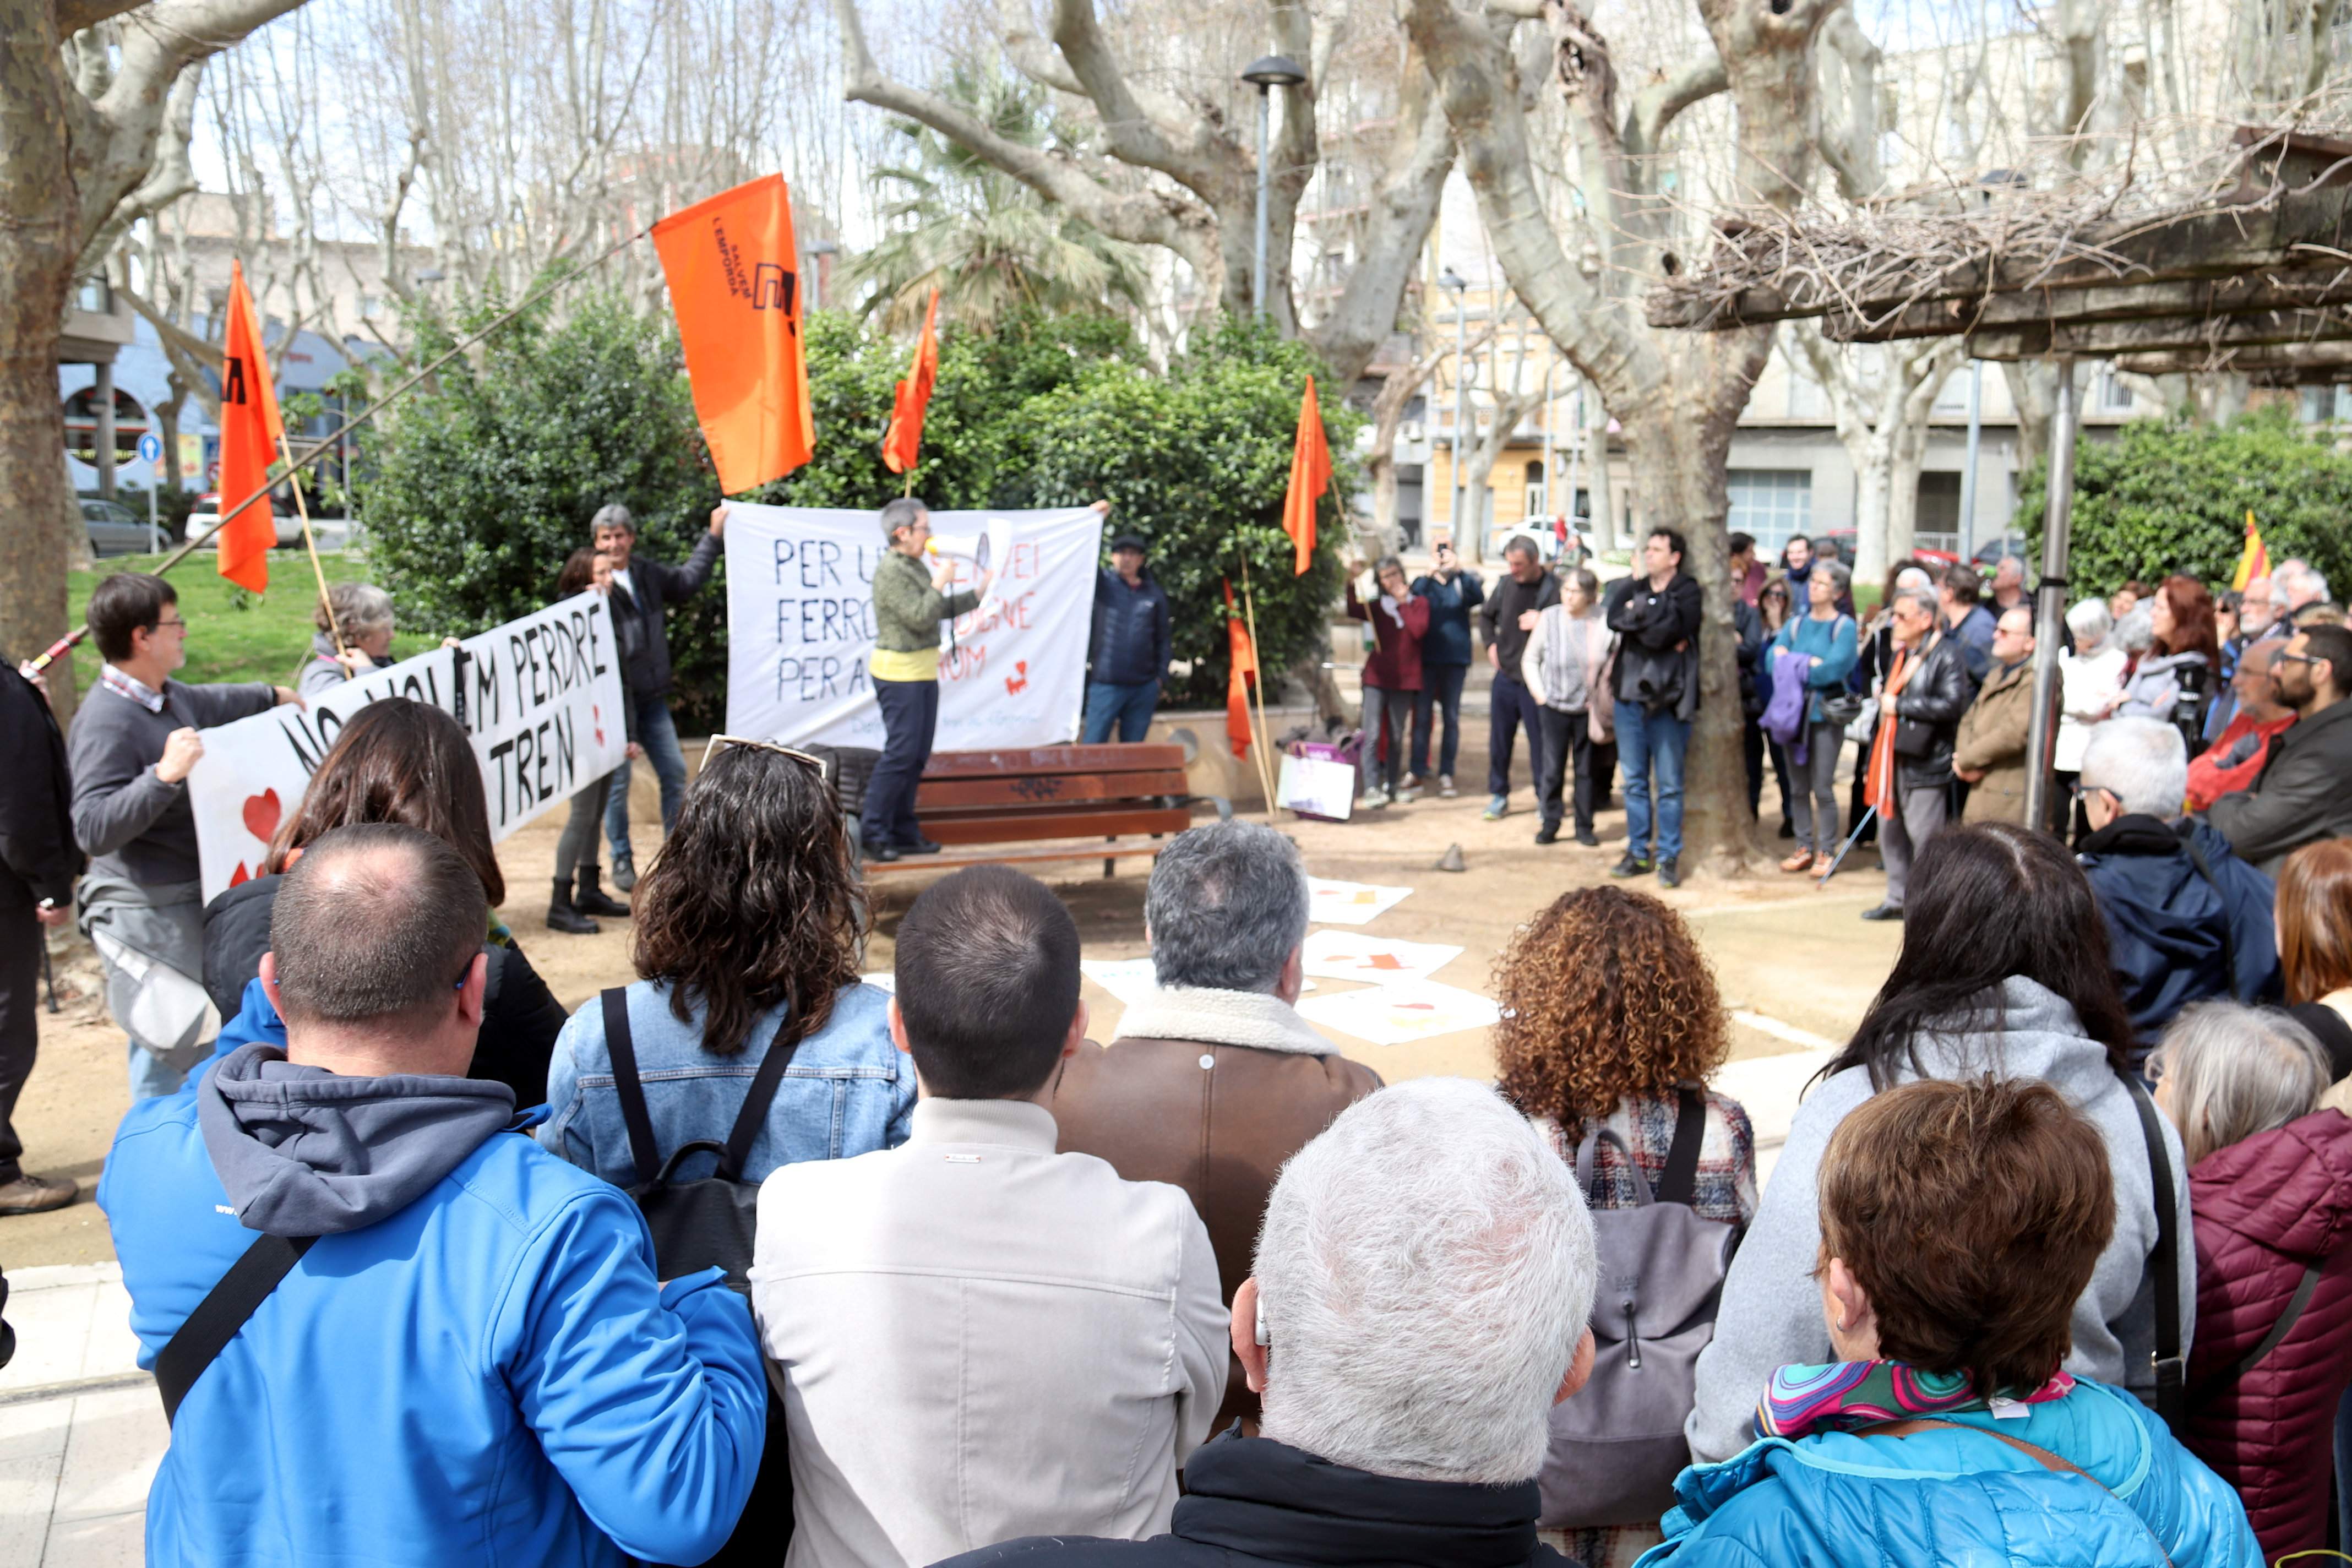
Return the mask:
<svg viewBox="0 0 2352 1568">
<path fill-rule="evenodd" d="M 1536 1483 L 1399 1481 L 1240 1422 L 1192 1450 L 1167 1535 L 1030 1535 L 938 1568 L 1573 1568 L 1536 1540 Z"/>
</svg>

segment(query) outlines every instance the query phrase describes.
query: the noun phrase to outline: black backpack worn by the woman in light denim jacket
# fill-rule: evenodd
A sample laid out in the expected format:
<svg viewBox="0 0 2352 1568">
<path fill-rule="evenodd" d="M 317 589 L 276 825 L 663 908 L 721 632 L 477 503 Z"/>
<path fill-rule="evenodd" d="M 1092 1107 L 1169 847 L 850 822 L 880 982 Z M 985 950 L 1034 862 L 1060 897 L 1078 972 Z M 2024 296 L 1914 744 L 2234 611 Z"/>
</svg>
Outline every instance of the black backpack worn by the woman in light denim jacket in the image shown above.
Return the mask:
<svg viewBox="0 0 2352 1568">
<path fill-rule="evenodd" d="M 800 1041 L 786 1044 L 793 1027 L 793 1009 L 783 1009 L 783 1023 L 760 1058 L 760 1070 L 743 1093 L 743 1110 L 736 1114 L 727 1143 L 696 1138 L 661 1157 L 654 1140 L 654 1117 L 644 1107 L 644 1079 L 637 1077 L 637 1044 L 628 1032 L 628 992 L 607 990 L 604 1001 L 604 1051 L 612 1056 L 612 1086 L 621 1095 L 621 1121 L 628 1124 L 628 1152 L 637 1164 L 637 1185 L 628 1197 L 637 1201 L 644 1227 L 654 1234 L 654 1272 L 661 1279 L 696 1274 L 708 1267 L 727 1269 L 727 1286 L 750 1293 L 750 1248 L 760 1218 L 760 1185 L 743 1180 L 743 1161 L 750 1145 L 767 1124 L 767 1107 L 776 1103 L 776 1086 L 783 1070 L 793 1065 Z M 689 1154 L 717 1154 L 717 1171 L 701 1180 L 675 1180 L 677 1164 Z M 783 1387 L 776 1366 L 760 1354 L 767 1368 L 767 1446 L 760 1450 L 760 1479 L 753 1481 L 750 1502 L 736 1521 L 734 1535 L 708 1563 L 734 1568 L 739 1563 L 762 1563 L 774 1568 L 783 1561 L 783 1549 L 793 1540 L 793 1465 L 786 1455 Z"/>
</svg>

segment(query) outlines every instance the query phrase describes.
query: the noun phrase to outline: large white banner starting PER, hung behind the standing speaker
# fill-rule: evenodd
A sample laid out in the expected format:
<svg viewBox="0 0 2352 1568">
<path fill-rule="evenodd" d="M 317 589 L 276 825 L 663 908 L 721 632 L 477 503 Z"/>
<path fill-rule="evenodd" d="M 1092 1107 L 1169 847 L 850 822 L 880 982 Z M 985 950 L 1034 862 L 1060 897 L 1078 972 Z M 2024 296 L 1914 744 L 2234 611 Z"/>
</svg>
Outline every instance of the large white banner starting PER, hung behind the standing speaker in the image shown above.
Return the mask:
<svg viewBox="0 0 2352 1568">
<path fill-rule="evenodd" d="M 1077 738 L 1103 517 L 931 512 L 934 538 L 1007 538 L 988 599 L 941 628 L 943 752 Z M 866 656 L 875 646 L 873 576 L 884 541 L 873 512 L 727 505 L 727 729 L 786 743 L 882 745 Z M 941 552 L 927 569 L 971 559 Z"/>
</svg>

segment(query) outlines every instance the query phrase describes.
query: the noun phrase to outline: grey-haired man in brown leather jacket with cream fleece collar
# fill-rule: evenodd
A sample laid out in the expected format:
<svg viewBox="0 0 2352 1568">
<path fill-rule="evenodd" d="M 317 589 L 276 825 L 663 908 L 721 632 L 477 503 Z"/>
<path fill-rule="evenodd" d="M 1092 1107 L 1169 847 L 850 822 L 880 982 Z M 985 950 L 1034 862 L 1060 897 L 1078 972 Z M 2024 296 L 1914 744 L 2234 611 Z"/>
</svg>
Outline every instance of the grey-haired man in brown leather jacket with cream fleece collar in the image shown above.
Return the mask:
<svg viewBox="0 0 2352 1568">
<path fill-rule="evenodd" d="M 1143 926 L 1160 987 L 1127 1009 L 1110 1046 L 1077 1048 L 1049 1110 L 1061 1152 L 1185 1190 L 1230 1307 L 1282 1161 L 1381 1074 L 1338 1056 L 1291 1006 L 1308 875 L 1272 827 L 1232 820 L 1176 835 L 1152 865 Z M 1230 1361 L 1216 1429 L 1242 1415 L 1258 1415 L 1258 1396 Z"/>
</svg>

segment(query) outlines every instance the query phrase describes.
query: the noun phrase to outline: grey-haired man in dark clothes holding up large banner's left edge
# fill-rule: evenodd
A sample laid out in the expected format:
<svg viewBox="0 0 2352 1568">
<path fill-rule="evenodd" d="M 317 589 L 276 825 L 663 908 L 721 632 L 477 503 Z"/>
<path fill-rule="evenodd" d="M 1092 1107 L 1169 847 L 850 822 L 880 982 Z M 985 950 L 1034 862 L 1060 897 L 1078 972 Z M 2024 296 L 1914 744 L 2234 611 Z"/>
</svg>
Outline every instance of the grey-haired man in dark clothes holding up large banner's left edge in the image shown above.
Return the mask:
<svg viewBox="0 0 2352 1568">
<path fill-rule="evenodd" d="M 727 534 L 727 505 L 710 510 L 710 531 L 694 541 L 684 567 L 635 555 L 637 520 L 614 501 L 597 508 L 588 522 L 597 555 L 612 557 L 612 618 L 621 642 L 621 684 L 635 724 L 628 733 L 654 764 L 661 780 L 661 837 L 677 825 L 677 802 L 687 792 L 687 755 L 677 748 L 677 724 L 670 722 L 670 604 L 684 604 L 710 581 Z M 626 623 L 626 625 L 623 625 Z M 612 846 L 612 884 L 623 893 L 637 886 L 637 858 L 628 846 L 628 762 L 612 773 L 604 797 L 604 839 Z M 590 914 L 604 910 L 590 907 Z"/>
</svg>

